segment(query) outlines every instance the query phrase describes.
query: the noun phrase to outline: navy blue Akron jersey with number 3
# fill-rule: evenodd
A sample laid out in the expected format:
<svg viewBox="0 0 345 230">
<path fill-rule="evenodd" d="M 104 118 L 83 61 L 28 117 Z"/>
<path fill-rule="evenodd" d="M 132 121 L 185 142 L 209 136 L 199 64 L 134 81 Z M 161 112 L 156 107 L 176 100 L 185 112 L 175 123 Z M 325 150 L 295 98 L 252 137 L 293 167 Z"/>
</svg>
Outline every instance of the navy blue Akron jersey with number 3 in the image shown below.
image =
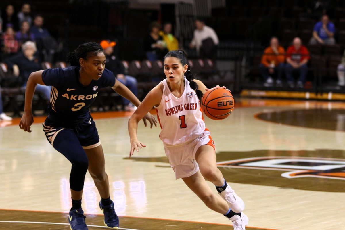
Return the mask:
<svg viewBox="0 0 345 230">
<path fill-rule="evenodd" d="M 115 85 L 114 74 L 105 69 L 102 77 L 88 86 L 79 82 L 80 67 L 47 69 L 42 80 L 51 86 L 48 118 L 63 124 L 80 123 L 89 117 L 90 104 L 95 101 L 100 88 Z"/>
</svg>

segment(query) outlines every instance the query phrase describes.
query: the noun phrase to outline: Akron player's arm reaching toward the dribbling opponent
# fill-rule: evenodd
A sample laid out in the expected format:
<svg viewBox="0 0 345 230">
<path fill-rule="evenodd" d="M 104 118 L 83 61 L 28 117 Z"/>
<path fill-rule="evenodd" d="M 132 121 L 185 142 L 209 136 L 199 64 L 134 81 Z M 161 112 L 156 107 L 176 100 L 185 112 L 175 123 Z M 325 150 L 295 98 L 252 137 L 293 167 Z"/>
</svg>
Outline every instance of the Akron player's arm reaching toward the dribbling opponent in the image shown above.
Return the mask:
<svg viewBox="0 0 345 230">
<path fill-rule="evenodd" d="M 115 85 L 111 87 L 113 90 L 115 90 L 118 94 L 120 94 L 122 97 L 128 99 L 132 104 L 134 104 L 136 107 L 139 107 L 140 101 L 139 99 L 130 91 L 124 84 L 122 84 L 120 81 L 116 81 Z M 152 107 L 151 107 L 152 108 Z M 147 126 L 146 120 L 148 120 L 151 124 L 150 128 L 152 128 L 153 125 L 157 127 L 157 121 L 154 116 L 152 116 L 151 113 L 146 113 L 145 116 L 142 118 L 144 121 L 145 126 Z"/>
</svg>

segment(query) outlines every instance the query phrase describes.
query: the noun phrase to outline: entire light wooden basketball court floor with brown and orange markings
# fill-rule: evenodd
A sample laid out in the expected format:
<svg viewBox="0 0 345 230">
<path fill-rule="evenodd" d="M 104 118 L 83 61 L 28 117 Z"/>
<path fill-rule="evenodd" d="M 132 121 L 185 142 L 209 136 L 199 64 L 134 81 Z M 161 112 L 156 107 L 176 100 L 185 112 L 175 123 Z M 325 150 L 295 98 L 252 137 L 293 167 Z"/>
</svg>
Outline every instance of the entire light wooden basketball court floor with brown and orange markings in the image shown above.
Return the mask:
<svg viewBox="0 0 345 230">
<path fill-rule="evenodd" d="M 345 103 L 235 100 L 229 118 L 205 118 L 218 167 L 245 201 L 247 230 L 344 230 Z M 140 123 L 147 145 L 128 158 L 128 112 L 93 113 L 105 151 L 120 229 L 233 229 L 175 175 L 158 138 Z M 53 149 L 36 118 L 0 122 L 0 229 L 69 229 L 70 163 Z M 212 186 L 211 183 L 209 183 Z M 214 189 L 216 193 L 216 190 Z M 89 174 L 82 206 L 89 229 L 104 229 Z"/>
</svg>

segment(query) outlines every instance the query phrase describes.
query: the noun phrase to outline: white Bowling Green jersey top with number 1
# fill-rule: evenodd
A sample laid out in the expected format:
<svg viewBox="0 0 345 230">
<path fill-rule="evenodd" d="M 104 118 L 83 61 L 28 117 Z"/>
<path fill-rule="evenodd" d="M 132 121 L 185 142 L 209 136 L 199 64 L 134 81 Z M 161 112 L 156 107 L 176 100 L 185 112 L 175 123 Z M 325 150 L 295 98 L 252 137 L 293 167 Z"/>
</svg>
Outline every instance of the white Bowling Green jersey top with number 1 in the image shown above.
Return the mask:
<svg viewBox="0 0 345 230">
<path fill-rule="evenodd" d="M 185 78 L 185 91 L 180 98 L 175 97 L 163 81 L 162 100 L 156 108 L 162 131 L 159 138 L 167 145 L 177 145 L 197 138 L 205 130 L 203 112 L 195 90 L 190 88 Z"/>
</svg>

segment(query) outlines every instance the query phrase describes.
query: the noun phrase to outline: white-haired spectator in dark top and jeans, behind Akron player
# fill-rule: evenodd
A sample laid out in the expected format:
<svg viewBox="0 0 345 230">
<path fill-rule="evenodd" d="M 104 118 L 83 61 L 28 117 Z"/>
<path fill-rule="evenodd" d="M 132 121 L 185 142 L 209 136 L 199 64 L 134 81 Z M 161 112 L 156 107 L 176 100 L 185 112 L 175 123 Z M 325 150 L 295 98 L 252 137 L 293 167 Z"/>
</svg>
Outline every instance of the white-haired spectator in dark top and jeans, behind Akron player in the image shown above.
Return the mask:
<svg viewBox="0 0 345 230">
<path fill-rule="evenodd" d="M 32 41 L 27 41 L 22 45 L 22 52 L 16 56 L 8 58 L 5 63 L 8 68 L 13 69 L 13 74 L 16 77 L 20 77 L 19 81 L 22 86 L 26 88 L 26 82 L 32 72 L 42 70 L 42 63 L 34 55 L 37 51 L 36 45 Z M 39 92 L 47 102 L 50 99 L 51 86 L 43 86 L 38 84 L 36 92 Z"/>
</svg>

